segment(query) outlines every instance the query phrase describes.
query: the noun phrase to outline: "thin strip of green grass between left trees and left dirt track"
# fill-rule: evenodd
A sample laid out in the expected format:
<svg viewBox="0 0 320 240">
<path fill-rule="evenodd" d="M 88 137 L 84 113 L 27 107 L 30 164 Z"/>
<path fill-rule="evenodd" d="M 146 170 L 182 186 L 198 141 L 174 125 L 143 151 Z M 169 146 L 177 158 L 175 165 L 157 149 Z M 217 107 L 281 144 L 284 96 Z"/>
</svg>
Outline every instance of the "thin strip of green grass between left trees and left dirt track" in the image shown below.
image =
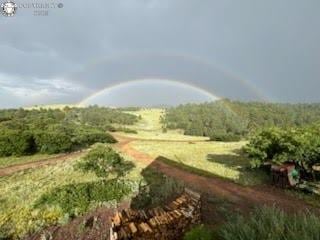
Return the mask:
<svg viewBox="0 0 320 240">
<path fill-rule="evenodd" d="M 0 168 L 2 167 L 8 167 L 12 166 L 15 164 L 20 164 L 20 163 L 29 163 L 29 162 L 36 162 L 39 160 L 47 159 L 47 158 L 52 158 L 59 156 L 58 154 L 55 155 L 50 155 L 50 154 L 35 154 L 35 155 L 30 155 L 30 156 L 21 156 L 21 157 L 2 157 L 0 158 Z"/>
</svg>

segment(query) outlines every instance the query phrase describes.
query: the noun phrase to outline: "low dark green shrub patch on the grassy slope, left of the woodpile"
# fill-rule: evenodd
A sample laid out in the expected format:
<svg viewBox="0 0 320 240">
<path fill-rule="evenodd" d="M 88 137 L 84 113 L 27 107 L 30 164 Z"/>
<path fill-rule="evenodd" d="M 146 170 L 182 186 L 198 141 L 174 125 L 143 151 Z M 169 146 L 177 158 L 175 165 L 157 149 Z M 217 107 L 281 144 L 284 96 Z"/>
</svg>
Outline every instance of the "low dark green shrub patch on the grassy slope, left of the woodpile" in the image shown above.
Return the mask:
<svg viewBox="0 0 320 240">
<path fill-rule="evenodd" d="M 44 206 L 58 206 L 65 214 L 73 217 L 104 202 L 111 200 L 119 202 L 130 193 L 130 183 L 116 179 L 70 184 L 45 193 L 36 201 L 34 207 L 41 209 Z"/>
</svg>

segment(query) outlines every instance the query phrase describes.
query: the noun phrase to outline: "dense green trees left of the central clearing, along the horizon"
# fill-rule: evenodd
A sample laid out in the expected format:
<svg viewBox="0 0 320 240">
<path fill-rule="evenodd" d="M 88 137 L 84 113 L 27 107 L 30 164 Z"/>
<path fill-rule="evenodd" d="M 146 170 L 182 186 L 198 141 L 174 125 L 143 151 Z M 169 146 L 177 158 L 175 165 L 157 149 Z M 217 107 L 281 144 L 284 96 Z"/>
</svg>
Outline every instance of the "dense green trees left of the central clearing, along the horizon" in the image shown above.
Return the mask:
<svg viewBox="0 0 320 240">
<path fill-rule="evenodd" d="M 130 125 L 137 117 L 122 111 L 88 108 L 0 111 L 0 156 L 61 153 L 96 142 L 114 143 L 111 124 Z"/>
</svg>

